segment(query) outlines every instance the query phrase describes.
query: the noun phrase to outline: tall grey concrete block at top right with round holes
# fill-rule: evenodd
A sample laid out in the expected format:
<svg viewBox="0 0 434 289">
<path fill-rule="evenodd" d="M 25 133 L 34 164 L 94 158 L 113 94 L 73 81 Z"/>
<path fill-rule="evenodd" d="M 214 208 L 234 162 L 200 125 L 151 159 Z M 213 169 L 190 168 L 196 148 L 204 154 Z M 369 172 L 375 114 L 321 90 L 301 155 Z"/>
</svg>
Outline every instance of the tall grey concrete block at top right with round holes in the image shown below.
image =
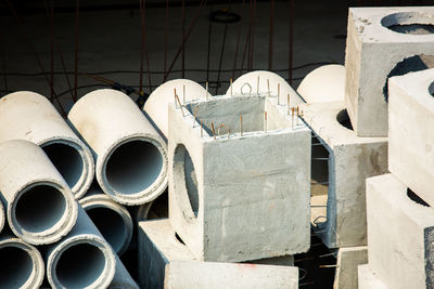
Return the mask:
<svg viewBox="0 0 434 289">
<path fill-rule="evenodd" d="M 434 55 L 434 35 L 423 31 L 433 15 L 432 6 L 349 9 L 345 104 L 357 135 L 387 135 L 387 77 L 405 58 Z M 399 74 L 427 67 L 414 61 L 421 65 L 409 64 Z"/>
</svg>

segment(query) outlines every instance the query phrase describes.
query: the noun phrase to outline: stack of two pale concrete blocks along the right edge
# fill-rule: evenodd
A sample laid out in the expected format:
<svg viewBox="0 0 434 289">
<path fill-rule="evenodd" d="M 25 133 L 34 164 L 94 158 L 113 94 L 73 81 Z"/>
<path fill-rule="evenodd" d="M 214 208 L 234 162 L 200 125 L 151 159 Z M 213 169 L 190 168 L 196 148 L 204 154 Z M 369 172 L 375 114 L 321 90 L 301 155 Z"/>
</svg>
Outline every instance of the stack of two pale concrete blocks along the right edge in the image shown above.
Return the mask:
<svg viewBox="0 0 434 289">
<path fill-rule="evenodd" d="M 369 263 L 359 288 L 434 286 L 433 81 L 434 69 L 390 79 L 391 173 L 367 181 Z"/>
</svg>

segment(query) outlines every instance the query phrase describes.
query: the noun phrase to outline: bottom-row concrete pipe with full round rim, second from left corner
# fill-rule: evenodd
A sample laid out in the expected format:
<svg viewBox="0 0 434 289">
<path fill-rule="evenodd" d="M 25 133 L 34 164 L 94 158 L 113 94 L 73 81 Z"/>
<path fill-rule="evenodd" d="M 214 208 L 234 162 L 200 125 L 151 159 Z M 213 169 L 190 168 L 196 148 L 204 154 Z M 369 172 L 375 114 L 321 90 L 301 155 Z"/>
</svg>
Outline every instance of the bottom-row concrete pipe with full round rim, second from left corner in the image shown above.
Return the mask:
<svg viewBox="0 0 434 289">
<path fill-rule="evenodd" d="M 107 288 L 116 271 L 112 247 L 81 206 L 69 234 L 46 251 L 47 278 L 52 288 Z"/>
</svg>

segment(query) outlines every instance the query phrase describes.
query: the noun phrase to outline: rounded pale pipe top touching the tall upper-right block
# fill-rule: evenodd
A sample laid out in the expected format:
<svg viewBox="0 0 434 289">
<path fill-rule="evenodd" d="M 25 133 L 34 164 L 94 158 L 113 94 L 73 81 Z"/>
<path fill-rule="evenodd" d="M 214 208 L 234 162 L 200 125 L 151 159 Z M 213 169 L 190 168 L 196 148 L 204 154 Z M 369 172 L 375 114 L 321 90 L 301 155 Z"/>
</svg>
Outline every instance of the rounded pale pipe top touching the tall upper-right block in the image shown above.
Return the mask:
<svg viewBox="0 0 434 289">
<path fill-rule="evenodd" d="M 343 102 L 345 66 L 331 64 L 318 67 L 303 79 L 297 92 L 307 103 Z"/>
</svg>

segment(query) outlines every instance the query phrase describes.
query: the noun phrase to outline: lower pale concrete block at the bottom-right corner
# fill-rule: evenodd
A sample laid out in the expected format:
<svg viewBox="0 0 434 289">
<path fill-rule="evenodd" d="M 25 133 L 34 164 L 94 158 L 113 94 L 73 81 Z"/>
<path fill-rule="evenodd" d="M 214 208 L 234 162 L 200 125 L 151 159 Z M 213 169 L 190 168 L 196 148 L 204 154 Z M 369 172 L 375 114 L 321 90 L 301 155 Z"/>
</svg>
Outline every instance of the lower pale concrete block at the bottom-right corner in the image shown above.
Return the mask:
<svg viewBox="0 0 434 289">
<path fill-rule="evenodd" d="M 434 286 L 434 208 L 419 201 L 392 174 L 367 180 L 369 266 L 390 288 Z"/>
</svg>

